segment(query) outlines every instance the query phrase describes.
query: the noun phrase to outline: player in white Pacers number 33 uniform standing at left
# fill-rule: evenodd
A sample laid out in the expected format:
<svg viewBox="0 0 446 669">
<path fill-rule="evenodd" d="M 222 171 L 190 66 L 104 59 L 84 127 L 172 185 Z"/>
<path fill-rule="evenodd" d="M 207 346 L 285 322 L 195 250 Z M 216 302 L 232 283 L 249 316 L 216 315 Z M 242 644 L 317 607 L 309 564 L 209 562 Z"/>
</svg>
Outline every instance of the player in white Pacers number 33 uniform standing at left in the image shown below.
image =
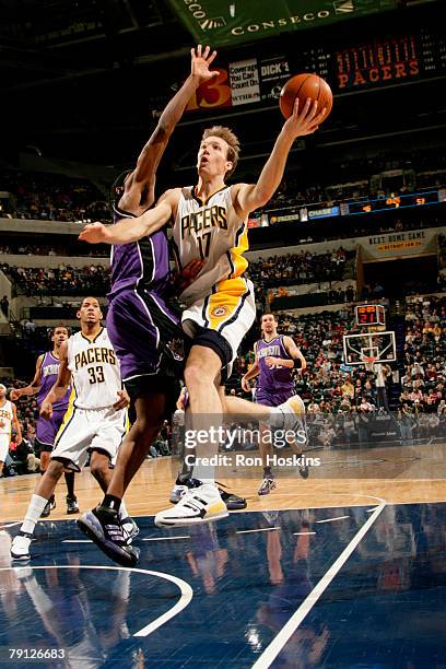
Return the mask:
<svg viewBox="0 0 446 669">
<path fill-rule="evenodd" d="M 85 297 L 78 312 L 81 330 L 63 342 L 59 351 L 56 384 L 42 402 L 40 415 L 50 419 L 52 404 L 73 386 L 70 406 L 56 436 L 47 471 L 37 483 L 20 533 L 11 545 L 14 560 L 30 559 L 35 526 L 52 495 L 63 468 L 80 471 L 91 454 L 90 470 L 102 490 L 111 478 L 109 463 L 116 458 L 127 430 L 128 396 L 121 389 L 119 361 L 102 327 L 102 312 L 95 297 Z M 120 507 L 122 525 L 138 533 L 127 509 Z"/>
</svg>

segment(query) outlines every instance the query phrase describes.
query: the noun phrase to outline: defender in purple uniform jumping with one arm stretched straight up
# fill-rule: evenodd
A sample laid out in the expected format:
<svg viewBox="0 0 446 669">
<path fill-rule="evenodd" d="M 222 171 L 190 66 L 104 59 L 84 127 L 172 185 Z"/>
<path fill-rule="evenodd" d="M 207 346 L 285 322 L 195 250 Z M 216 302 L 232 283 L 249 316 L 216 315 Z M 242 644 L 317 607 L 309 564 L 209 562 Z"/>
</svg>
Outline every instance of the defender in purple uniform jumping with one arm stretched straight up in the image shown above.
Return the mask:
<svg viewBox="0 0 446 669">
<path fill-rule="evenodd" d="M 193 92 L 219 73 L 210 70 L 215 56 L 209 46 L 191 49 L 191 73 L 164 109 L 136 168 L 126 176 L 114 207 L 115 223 L 130 222 L 152 207 L 160 160 Z M 201 267 L 198 259 L 185 263 L 185 282 Z M 184 332 L 180 315 L 168 304 L 171 287 L 164 227 L 138 242 L 113 246 L 107 330 L 120 361 L 125 387 L 134 403 L 136 421 L 119 449 L 107 494 L 98 507 L 82 516 L 79 526 L 109 558 L 125 566 L 134 562 L 126 540 L 119 539 L 120 502 L 164 418 L 175 411 L 179 394 Z"/>
</svg>

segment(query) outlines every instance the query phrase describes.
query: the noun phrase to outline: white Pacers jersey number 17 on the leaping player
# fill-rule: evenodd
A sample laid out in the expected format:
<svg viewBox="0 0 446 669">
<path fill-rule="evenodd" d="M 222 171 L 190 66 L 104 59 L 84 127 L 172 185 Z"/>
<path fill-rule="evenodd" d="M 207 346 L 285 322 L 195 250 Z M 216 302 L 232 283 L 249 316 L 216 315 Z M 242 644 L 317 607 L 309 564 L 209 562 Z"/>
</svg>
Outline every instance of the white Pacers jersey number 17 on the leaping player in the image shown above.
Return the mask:
<svg viewBox="0 0 446 669">
<path fill-rule="evenodd" d="M 220 281 L 242 277 L 248 267 L 243 257 L 248 249 L 247 222 L 235 213 L 231 186 L 204 202 L 195 195 L 193 186 L 183 188 L 173 242 L 180 267 L 197 258 L 204 261 L 197 279 L 179 295 L 186 306 L 211 293 Z"/>
</svg>

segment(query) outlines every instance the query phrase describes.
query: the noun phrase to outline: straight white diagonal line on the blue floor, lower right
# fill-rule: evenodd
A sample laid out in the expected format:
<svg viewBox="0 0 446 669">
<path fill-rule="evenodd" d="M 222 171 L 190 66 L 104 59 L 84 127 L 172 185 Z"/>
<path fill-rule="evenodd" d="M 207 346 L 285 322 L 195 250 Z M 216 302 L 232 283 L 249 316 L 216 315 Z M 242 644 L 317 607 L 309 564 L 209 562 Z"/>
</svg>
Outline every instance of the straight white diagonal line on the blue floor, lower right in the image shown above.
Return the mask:
<svg viewBox="0 0 446 669">
<path fill-rule="evenodd" d="M 350 555 L 353 553 L 355 548 L 359 545 L 361 540 L 365 537 L 365 535 L 371 529 L 372 525 L 382 514 L 382 512 L 386 507 L 385 500 L 382 500 L 382 504 L 377 506 L 374 513 L 369 516 L 369 518 L 364 523 L 362 528 L 356 532 L 350 543 L 344 548 L 339 558 L 333 562 L 328 572 L 324 574 L 319 583 L 316 587 L 309 592 L 309 595 L 304 599 L 298 609 L 293 613 L 290 620 L 284 624 L 279 634 L 272 639 L 272 642 L 267 646 L 257 661 L 253 665 L 251 669 L 268 669 L 281 653 L 282 648 L 290 641 L 291 636 L 297 630 L 298 625 L 303 622 L 303 620 L 308 615 L 309 611 L 313 609 L 319 597 L 325 592 L 328 588 L 334 576 L 342 568 L 345 562 L 349 560 Z"/>
</svg>

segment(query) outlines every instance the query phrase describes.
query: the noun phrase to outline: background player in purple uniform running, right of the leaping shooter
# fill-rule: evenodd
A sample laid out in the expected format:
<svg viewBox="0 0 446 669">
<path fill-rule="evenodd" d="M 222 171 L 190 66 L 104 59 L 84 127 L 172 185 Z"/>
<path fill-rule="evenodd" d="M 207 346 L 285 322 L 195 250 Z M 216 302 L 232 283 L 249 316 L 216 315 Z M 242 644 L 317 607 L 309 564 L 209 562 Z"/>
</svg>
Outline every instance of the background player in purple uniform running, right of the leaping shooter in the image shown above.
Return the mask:
<svg viewBox="0 0 446 669">
<path fill-rule="evenodd" d="M 263 314 L 260 324 L 263 337 L 255 344 L 256 360 L 242 378 L 242 387 L 246 392 L 249 392 L 249 380 L 257 377 L 256 402 L 266 407 L 279 407 L 296 392 L 293 368 L 305 369 L 306 362 L 292 338 L 279 334 L 278 321 L 272 314 Z M 259 447 L 263 465 L 263 481 L 259 489 L 259 495 L 267 495 L 275 488 L 270 466 L 273 447 L 271 439 L 261 436 L 266 430 L 268 427 L 260 423 Z M 291 446 L 293 450 L 302 455 L 295 444 L 291 444 Z M 301 466 L 300 473 L 306 479 L 308 467 Z"/>
</svg>

